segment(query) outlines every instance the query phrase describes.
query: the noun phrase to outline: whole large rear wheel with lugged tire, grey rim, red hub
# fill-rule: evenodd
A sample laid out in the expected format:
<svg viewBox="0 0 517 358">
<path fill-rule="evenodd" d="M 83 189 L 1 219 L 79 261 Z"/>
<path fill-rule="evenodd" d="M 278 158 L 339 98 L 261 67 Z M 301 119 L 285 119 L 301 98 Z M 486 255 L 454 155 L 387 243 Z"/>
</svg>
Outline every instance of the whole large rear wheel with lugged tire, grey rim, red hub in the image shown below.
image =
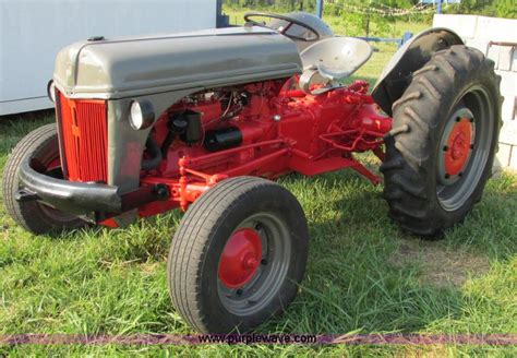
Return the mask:
<svg viewBox="0 0 517 358">
<path fill-rule="evenodd" d="M 501 77 L 480 51 L 452 46 L 412 75 L 385 139 L 389 216 L 441 238 L 481 200 L 501 126 Z"/>
</svg>

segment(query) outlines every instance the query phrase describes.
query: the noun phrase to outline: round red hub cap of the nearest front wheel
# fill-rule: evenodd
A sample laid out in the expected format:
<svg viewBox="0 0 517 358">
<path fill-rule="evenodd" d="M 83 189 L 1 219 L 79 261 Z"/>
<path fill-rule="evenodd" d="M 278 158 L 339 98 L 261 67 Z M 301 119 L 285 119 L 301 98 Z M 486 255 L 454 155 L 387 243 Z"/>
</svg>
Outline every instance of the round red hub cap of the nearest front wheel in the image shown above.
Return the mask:
<svg viewBox="0 0 517 358">
<path fill-rule="evenodd" d="M 230 237 L 223 250 L 218 275 L 230 288 L 242 287 L 256 273 L 262 259 L 262 240 L 252 228 L 239 229 Z"/>
</svg>

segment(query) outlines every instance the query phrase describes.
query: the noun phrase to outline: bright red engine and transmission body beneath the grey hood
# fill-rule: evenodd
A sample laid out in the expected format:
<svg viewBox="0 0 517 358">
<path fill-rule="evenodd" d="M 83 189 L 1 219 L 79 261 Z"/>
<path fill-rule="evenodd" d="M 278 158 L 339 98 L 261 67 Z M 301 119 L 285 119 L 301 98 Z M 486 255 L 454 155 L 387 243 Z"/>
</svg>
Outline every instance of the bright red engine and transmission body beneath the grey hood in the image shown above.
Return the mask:
<svg viewBox="0 0 517 358">
<path fill-rule="evenodd" d="M 159 167 L 142 171 L 142 186 L 166 183 L 171 196 L 142 206 L 140 215 L 187 210 L 205 190 L 233 176 L 275 179 L 289 171 L 313 176 L 350 167 L 378 183 L 381 179 L 352 156 L 373 151 L 382 160 L 383 136 L 392 128 L 392 119 L 368 94 L 369 84 L 356 81 L 311 95 L 297 90 L 297 82 L 293 77 L 223 88 L 224 95 L 207 92 L 172 105 L 155 126 L 156 143 L 164 147 L 171 116 L 187 110 L 201 115 L 202 139 L 185 143 L 176 136 Z M 217 131 L 232 131 L 240 140 L 209 151 L 207 135 Z"/>
</svg>

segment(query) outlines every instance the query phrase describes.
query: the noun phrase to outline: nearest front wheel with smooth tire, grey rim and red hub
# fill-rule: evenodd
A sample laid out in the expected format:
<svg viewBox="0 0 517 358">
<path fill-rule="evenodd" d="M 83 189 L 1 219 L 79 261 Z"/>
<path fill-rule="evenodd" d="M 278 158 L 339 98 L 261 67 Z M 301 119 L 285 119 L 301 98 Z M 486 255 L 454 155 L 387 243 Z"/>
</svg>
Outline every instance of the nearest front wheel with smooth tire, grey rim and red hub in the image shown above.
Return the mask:
<svg viewBox="0 0 517 358">
<path fill-rule="evenodd" d="M 192 204 L 175 235 L 172 303 L 199 332 L 250 331 L 294 299 L 308 242 L 289 191 L 260 178 L 224 180 Z"/>
</svg>

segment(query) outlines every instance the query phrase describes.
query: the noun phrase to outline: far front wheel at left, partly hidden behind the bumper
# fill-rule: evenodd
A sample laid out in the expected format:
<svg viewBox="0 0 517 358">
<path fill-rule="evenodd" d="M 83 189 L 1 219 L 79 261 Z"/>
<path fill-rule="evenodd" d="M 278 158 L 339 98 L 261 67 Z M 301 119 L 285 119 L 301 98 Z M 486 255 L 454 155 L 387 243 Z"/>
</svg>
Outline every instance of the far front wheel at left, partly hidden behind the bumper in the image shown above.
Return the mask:
<svg viewBox="0 0 517 358">
<path fill-rule="evenodd" d="M 64 213 L 38 201 L 19 202 L 16 192 L 21 189 L 19 169 L 22 160 L 32 156 L 45 172 L 62 178 L 59 143 L 56 124 L 43 126 L 23 138 L 9 156 L 3 171 L 3 201 L 9 215 L 26 230 L 40 235 L 83 226 L 85 223 L 74 215 Z"/>
</svg>

